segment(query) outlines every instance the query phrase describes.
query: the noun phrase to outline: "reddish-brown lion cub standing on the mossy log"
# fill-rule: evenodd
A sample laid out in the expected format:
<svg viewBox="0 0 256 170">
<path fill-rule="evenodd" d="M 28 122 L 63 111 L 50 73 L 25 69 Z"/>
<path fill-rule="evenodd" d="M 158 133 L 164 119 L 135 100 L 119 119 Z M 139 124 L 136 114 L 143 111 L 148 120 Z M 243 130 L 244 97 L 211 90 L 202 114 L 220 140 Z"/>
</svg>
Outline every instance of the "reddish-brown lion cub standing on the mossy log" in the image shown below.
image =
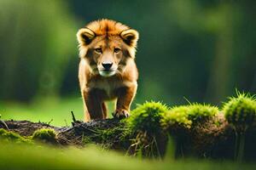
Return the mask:
<svg viewBox="0 0 256 170">
<path fill-rule="evenodd" d="M 137 92 L 134 59 L 138 37 L 137 31 L 114 20 L 96 20 L 78 31 L 79 84 L 85 122 L 105 119 L 104 101 L 109 99 L 117 99 L 113 116 L 129 116 Z"/>
</svg>

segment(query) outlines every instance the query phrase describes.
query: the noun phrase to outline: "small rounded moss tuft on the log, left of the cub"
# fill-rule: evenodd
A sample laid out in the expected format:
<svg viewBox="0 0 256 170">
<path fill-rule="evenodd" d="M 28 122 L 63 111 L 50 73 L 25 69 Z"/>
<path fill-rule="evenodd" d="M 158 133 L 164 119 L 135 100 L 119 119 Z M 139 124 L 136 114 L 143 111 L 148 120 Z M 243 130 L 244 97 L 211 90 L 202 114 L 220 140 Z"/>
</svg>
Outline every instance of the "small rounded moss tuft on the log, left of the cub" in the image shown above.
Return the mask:
<svg viewBox="0 0 256 170">
<path fill-rule="evenodd" d="M 57 134 L 55 133 L 54 129 L 42 128 L 42 129 L 36 130 L 33 133 L 32 139 L 55 144 L 57 143 Z"/>
</svg>

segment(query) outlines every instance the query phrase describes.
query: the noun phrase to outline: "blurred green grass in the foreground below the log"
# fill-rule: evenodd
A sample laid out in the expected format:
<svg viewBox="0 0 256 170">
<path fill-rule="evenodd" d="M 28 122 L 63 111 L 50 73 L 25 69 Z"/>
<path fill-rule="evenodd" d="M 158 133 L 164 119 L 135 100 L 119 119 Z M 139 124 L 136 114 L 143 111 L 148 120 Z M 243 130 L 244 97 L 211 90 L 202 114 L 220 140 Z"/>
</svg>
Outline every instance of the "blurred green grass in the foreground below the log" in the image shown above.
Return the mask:
<svg viewBox="0 0 256 170">
<path fill-rule="evenodd" d="M 207 160 L 141 160 L 91 145 L 84 149 L 0 144 L 0 169 L 255 169 L 252 163 Z M 28 161 L 29 160 L 29 161 Z"/>
</svg>

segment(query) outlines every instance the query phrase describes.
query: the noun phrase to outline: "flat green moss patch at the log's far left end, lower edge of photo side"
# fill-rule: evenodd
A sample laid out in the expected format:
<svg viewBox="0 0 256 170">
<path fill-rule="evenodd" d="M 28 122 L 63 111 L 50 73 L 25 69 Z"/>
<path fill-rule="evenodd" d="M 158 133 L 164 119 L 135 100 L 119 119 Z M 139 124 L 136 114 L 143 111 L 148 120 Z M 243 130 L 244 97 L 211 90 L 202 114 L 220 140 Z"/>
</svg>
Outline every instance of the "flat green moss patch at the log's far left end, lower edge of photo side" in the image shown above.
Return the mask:
<svg viewBox="0 0 256 170">
<path fill-rule="evenodd" d="M 13 133 L 0 128 L 0 140 L 4 142 L 32 144 L 30 139 L 25 139 L 18 133 Z"/>
</svg>

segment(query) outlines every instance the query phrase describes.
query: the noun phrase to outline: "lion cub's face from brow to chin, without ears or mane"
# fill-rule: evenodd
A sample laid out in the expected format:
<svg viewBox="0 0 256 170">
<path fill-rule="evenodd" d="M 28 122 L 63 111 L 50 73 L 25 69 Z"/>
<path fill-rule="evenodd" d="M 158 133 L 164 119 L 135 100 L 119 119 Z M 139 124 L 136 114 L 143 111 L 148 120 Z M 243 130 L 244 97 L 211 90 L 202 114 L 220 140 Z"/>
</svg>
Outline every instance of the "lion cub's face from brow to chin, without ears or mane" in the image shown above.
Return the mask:
<svg viewBox="0 0 256 170">
<path fill-rule="evenodd" d="M 120 37 L 99 36 L 88 45 L 85 59 L 94 74 L 111 77 L 124 70 L 129 54 Z"/>
</svg>

